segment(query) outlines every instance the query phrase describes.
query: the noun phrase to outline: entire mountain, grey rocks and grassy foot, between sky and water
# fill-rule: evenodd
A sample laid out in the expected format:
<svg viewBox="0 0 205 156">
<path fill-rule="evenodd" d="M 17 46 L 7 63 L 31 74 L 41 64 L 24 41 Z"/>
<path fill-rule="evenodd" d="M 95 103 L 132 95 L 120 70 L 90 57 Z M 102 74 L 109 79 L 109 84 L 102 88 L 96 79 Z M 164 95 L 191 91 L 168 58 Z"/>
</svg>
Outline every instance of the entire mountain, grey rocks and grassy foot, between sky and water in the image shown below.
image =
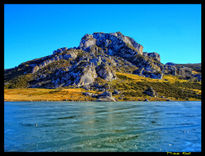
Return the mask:
<svg viewBox="0 0 205 156">
<path fill-rule="evenodd" d="M 78 47 L 59 48 L 5 70 L 4 88 L 5 100 L 19 92 L 25 94 L 20 100 L 32 99 L 32 88 L 47 90 L 47 100 L 53 101 L 200 100 L 201 64 L 162 64 L 158 53 L 143 52 L 142 45 L 120 32 L 93 33 L 83 36 Z M 45 94 L 42 89 L 39 95 Z M 75 89 L 79 98 L 67 96 Z M 50 92 L 65 96 L 50 98 Z"/>
</svg>

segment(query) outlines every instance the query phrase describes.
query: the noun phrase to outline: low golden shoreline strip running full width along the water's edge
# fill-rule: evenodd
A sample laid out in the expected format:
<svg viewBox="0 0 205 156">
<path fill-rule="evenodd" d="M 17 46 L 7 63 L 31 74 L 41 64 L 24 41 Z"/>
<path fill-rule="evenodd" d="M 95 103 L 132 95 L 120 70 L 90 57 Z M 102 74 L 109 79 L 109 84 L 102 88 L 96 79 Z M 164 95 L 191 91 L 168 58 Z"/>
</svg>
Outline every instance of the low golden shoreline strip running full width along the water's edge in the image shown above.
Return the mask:
<svg viewBox="0 0 205 156">
<path fill-rule="evenodd" d="M 69 88 L 69 89 L 42 89 L 42 88 L 21 88 L 21 89 L 4 89 L 4 101 L 5 102 L 17 102 L 17 101 L 67 101 L 67 102 L 115 102 L 106 99 L 96 99 L 91 96 L 86 96 L 83 93 L 89 92 L 93 94 L 101 94 L 102 92 L 88 91 L 82 88 Z M 201 101 L 197 98 L 174 98 L 164 96 L 112 96 L 116 102 L 121 101 Z"/>
</svg>

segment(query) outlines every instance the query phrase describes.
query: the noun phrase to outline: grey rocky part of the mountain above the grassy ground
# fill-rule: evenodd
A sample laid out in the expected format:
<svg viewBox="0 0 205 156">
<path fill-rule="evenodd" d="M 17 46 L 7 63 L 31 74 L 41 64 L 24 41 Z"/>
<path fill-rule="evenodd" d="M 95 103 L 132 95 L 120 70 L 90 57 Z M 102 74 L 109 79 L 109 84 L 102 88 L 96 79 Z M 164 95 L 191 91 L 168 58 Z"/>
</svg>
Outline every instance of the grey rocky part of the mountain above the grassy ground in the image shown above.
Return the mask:
<svg viewBox="0 0 205 156">
<path fill-rule="evenodd" d="M 142 45 L 120 32 L 86 34 L 77 48 L 59 48 L 49 56 L 5 70 L 4 77 L 8 88 L 18 87 L 22 81 L 26 81 L 23 87 L 31 88 L 99 88 L 98 79 L 106 84 L 117 79 L 116 72 L 153 79 L 171 74 L 200 80 L 188 67 L 162 64 L 158 53 L 143 52 Z"/>
</svg>

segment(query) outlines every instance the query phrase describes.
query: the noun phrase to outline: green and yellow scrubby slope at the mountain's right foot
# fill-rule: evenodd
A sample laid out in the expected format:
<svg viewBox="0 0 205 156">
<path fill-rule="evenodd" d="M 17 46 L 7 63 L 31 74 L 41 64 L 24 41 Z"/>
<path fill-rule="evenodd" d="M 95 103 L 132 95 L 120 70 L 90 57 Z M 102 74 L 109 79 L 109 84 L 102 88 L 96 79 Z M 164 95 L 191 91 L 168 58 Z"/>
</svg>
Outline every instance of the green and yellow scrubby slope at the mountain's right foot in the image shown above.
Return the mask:
<svg viewBox="0 0 205 156">
<path fill-rule="evenodd" d="M 154 80 L 140 77 L 134 74 L 117 73 L 118 79 L 109 83 L 110 91 L 114 89 L 121 92 L 120 96 L 125 96 L 126 100 L 137 100 L 138 98 L 147 98 L 143 92 L 147 87 L 152 87 L 157 92 L 158 100 L 200 100 L 201 83 L 188 80 L 179 80 L 174 76 L 165 76 L 167 80 Z M 125 100 L 125 99 L 123 99 Z"/>
</svg>

